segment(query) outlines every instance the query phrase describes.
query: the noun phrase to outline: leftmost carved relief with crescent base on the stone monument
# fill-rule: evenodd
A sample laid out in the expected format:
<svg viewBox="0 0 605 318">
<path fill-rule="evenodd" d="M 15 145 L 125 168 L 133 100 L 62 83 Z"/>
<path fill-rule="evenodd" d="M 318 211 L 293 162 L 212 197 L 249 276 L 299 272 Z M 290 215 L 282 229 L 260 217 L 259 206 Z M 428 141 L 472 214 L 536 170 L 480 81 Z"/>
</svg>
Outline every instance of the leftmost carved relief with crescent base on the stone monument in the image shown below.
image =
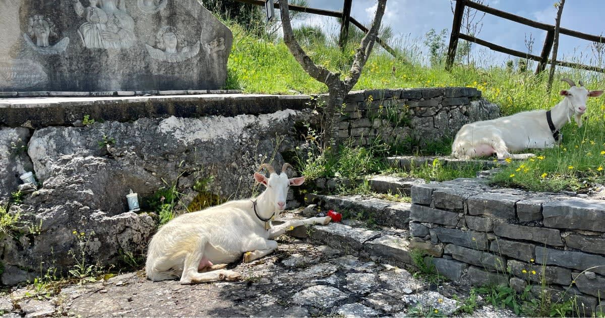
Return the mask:
<svg viewBox="0 0 605 318">
<path fill-rule="evenodd" d="M 70 39 L 66 37 L 50 45 L 51 37 L 58 38 L 54 23 L 49 18 L 45 18 L 44 15 L 33 15 L 28 19 L 27 33 L 23 33 L 23 39 L 34 51 L 47 55 L 65 51 Z M 36 42 L 34 43 L 32 39 Z"/>
</svg>

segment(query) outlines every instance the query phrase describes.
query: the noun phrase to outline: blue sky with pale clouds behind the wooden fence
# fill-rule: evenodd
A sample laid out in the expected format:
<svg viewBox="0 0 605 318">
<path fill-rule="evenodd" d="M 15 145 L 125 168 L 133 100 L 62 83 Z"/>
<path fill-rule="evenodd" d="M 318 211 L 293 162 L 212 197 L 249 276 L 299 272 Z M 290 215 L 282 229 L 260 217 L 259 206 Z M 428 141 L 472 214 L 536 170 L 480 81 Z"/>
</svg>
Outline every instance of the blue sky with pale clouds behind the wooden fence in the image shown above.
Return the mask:
<svg viewBox="0 0 605 318">
<path fill-rule="evenodd" d="M 308 0 L 310 7 L 325 8 L 329 10 L 342 10 L 342 0 Z M 554 24 L 557 9 L 555 0 L 486 0 L 490 7 L 520 15 L 534 21 Z M 364 24 L 370 24 L 376 7 L 375 0 L 353 0 L 351 15 Z M 396 35 L 407 38 L 411 44 L 427 33 L 431 28 L 437 31 L 452 25 L 453 14 L 449 0 L 388 0 L 387 11 L 383 23 L 391 25 Z M 296 22 L 299 24 L 301 22 Z M 321 25 L 327 31 L 338 30 L 335 18 L 310 15 L 302 23 Z M 577 30 L 593 35 L 605 33 L 605 1 L 601 0 L 567 0 L 561 18 L 561 27 Z M 515 50 L 527 51 L 524 43 L 526 36 L 532 35 L 535 39 L 533 53 L 540 55 L 546 36 L 546 31 L 527 27 L 506 19 L 485 15 L 483 30 L 479 38 Z M 491 50 L 480 50 L 475 45 L 474 54 L 483 59 L 503 63 L 508 56 L 492 53 Z M 582 57 L 584 61 L 592 57 L 590 42 L 582 39 L 562 35 L 559 44 L 559 57 Z M 559 58 L 560 59 L 560 58 Z"/>
</svg>

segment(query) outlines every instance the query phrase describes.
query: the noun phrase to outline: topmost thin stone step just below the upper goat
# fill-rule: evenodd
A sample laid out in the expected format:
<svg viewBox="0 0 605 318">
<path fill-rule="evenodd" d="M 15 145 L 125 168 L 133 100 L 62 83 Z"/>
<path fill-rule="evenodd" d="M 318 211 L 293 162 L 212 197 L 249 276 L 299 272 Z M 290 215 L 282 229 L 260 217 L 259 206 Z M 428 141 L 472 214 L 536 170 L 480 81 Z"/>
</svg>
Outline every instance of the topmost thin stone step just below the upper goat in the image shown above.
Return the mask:
<svg viewBox="0 0 605 318">
<path fill-rule="evenodd" d="M 483 165 L 487 170 L 490 168 L 497 167 L 499 164 L 506 164 L 506 161 L 492 161 L 484 159 L 456 159 L 450 156 L 392 156 L 386 157 L 385 161 L 392 167 L 401 168 L 403 170 L 410 170 L 411 167 L 422 167 L 424 165 L 431 165 L 433 161 L 438 159 L 443 167 L 452 169 L 459 169 L 467 167 L 468 165 Z"/>
</svg>

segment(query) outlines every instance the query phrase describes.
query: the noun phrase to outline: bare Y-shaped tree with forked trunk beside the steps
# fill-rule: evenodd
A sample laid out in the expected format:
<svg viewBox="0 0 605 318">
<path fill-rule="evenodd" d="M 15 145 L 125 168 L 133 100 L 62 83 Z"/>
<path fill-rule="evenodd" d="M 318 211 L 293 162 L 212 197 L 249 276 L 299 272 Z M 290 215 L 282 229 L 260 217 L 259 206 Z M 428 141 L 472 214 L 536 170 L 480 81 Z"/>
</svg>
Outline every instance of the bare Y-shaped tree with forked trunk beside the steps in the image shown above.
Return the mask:
<svg viewBox="0 0 605 318">
<path fill-rule="evenodd" d="M 359 81 L 361 71 L 370 56 L 372 48 L 374 47 L 374 42 L 376 42 L 382 16 L 384 15 L 384 10 L 387 6 L 387 0 L 378 0 L 378 7 L 376 8 L 376 15 L 374 15 L 371 28 L 361 40 L 361 44 L 355 53 L 353 65 L 344 80 L 340 79 L 340 73 L 334 73 L 321 65 L 313 63 L 307 53 L 302 50 L 302 47 L 298 44 L 298 41 L 296 41 L 292 32 L 288 0 L 279 1 L 281 24 L 284 30 L 284 43 L 307 74 L 328 87 L 328 104 L 324 108 L 324 147 L 336 145 L 336 121 L 338 121 L 340 116 L 338 110 L 340 110 L 345 96 L 347 96 L 348 92 L 355 86 L 357 81 Z"/>
</svg>

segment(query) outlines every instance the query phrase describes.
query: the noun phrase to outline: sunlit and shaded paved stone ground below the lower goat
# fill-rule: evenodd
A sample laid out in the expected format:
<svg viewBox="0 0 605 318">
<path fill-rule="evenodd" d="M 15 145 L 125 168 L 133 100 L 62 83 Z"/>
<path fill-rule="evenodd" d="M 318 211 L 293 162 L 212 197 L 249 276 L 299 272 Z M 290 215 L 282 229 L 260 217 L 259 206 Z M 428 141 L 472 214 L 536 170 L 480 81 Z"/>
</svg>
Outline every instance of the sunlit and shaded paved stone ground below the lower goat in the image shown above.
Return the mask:
<svg viewBox="0 0 605 318">
<path fill-rule="evenodd" d="M 106 282 L 62 288 L 48 300 L 25 298 L 19 289 L 0 296 L 5 317 L 43 316 L 408 316 L 411 308 L 433 308 L 452 315 L 453 294 L 465 287 L 439 287 L 415 279 L 407 270 L 346 255 L 326 245 L 280 237 L 278 251 L 232 269 L 239 282 L 180 285 L 176 280 L 151 282 L 143 271 Z M 420 305 L 419 305 L 420 304 Z M 484 306 L 480 316 L 511 316 Z"/>
</svg>

